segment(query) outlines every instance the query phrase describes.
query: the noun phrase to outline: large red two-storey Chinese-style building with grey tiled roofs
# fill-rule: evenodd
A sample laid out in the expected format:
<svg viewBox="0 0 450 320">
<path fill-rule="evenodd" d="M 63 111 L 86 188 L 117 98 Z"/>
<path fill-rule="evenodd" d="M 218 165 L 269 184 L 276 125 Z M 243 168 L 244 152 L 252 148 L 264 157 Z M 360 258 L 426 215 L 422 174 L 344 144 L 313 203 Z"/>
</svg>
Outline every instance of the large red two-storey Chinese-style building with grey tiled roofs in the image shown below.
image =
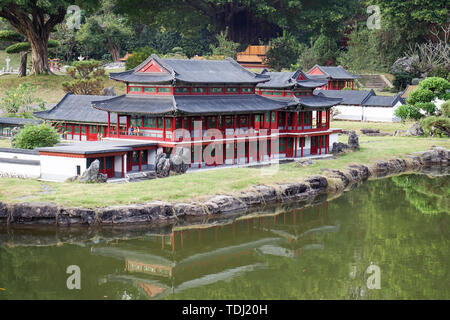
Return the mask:
<svg viewBox="0 0 450 320">
<path fill-rule="evenodd" d="M 116 164 L 110 176 L 143 170 L 156 150 L 169 154 L 183 148 L 190 168 L 327 154 L 340 132 L 330 129 L 330 108 L 341 99 L 315 95 L 326 81 L 300 70 L 255 74 L 233 59 L 152 55 L 110 78 L 125 82 L 127 93 L 113 98 L 68 94 L 53 109 L 35 113 L 54 123 L 64 139 L 126 143 L 121 147 L 130 150 L 111 155 L 122 159 L 109 160 Z M 108 153 L 103 146 L 90 151 Z"/>
</svg>

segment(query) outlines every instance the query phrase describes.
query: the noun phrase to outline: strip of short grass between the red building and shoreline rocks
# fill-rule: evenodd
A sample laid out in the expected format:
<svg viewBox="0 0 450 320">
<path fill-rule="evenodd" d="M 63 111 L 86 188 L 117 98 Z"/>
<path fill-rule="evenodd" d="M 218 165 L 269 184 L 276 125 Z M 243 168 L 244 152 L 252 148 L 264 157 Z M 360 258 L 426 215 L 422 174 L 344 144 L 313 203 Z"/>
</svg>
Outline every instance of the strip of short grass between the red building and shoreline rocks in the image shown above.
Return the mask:
<svg viewBox="0 0 450 320">
<path fill-rule="evenodd" d="M 342 136 L 343 141 L 346 136 Z M 0 201 L 51 202 L 65 206 L 102 207 L 117 204 L 142 203 L 152 200 L 181 201 L 201 199 L 214 194 L 236 194 L 256 184 L 274 185 L 299 181 L 318 174 L 323 168 L 344 168 L 352 163 L 370 164 L 431 146 L 450 148 L 449 139 L 413 137 L 360 137 L 361 150 L 337 159 L 317 160 L 314 165 L 299 168 L 294 163 L 282 164 L 273 175 L 262 174 L 257 168 L 227 168 L 188 173 L 165 179 L 129 184 L 85 185 L 51 183 L 37 180 L 0 179 Z M 51 191 L 43 192 L 43 186 Z"/>
</svg>

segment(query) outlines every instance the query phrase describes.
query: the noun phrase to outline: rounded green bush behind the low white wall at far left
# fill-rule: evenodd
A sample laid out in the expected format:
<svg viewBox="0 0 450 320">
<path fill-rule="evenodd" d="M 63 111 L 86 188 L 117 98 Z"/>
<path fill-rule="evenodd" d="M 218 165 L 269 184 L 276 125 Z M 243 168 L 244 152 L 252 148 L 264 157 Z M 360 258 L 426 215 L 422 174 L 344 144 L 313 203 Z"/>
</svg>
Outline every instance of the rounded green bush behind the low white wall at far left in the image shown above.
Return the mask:
<svg viewBox="0 0 450 320">
<path fill-rule="evenodd" d="M 19 149 L 34 149 L 53 147 L 59 142 L 59 134 L 48 124 L 26 125 L 15 137 L 13 147 Z"/>
</svg>

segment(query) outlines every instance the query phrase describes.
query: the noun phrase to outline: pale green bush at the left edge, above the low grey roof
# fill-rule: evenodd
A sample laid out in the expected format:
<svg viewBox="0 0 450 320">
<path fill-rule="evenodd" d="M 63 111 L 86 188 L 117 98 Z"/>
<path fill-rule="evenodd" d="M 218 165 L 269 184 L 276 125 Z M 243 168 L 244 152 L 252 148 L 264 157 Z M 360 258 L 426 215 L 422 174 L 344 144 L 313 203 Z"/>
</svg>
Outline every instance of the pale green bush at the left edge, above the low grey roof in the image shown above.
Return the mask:
<svg viewBox="0 0 450 320">
<path fill-rule="evenodd" d="M 45 106 L 45 102 L 36 98 L 35 93 L 36 88 L 30 82 L 24 82 L 5 91 L 4 97 L 0 99 L 0 108 L 8 116 L 29 118 L 32 116 L 33 104 L 38 104 L 41 109 Z"/>
</svg>

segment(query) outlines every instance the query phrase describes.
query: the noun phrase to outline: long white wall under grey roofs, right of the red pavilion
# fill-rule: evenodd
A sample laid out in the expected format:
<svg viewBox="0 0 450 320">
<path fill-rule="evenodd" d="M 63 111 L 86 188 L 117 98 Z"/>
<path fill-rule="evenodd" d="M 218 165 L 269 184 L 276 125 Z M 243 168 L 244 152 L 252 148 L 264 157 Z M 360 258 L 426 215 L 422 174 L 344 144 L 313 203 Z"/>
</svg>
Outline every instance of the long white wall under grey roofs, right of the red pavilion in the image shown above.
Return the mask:
<svg viewBox="0 0 450 320">
<path fill-rule="evenodd" d="M 339 114 L 334 116 L 336 120 L 356 120 L 356 121 L 379 121 L 379 122 L 398 122 L 400 121 L 394 115 L 394 108 L 389 107 L 360 107 L 360 106 L 345 106 L 338 105 L 335 108 Z"/>
</svg>

